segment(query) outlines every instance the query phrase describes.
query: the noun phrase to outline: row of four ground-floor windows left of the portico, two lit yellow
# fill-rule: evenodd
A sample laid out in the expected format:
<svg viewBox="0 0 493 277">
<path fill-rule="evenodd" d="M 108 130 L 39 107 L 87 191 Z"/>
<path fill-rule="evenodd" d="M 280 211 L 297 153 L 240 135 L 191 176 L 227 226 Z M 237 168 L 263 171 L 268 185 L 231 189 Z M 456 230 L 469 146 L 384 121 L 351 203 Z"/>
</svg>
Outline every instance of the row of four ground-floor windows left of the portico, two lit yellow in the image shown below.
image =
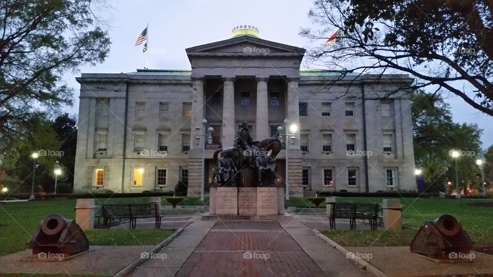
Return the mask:
<svg viewBox="0 0 493 277">
<path fill-rule="evenodd" d="M 155 168 L 154 173 L 154 184 L 156 187 L 164 187 L 167 185 L 166 183 L 166 175 L 167 170 L 165 168 Z M 188 169 L 180 168 L 180 180 L 182 182 L 188 182 Z M 97 168 L 94 171 L 94 186 L 103 186 L 104 185 L 104 168 Z M 142 186 L 144 180 L 144 169 L 143 168 L 134 168 L 132 170 L 132 185 L 134 186 Z"/>
</svg>

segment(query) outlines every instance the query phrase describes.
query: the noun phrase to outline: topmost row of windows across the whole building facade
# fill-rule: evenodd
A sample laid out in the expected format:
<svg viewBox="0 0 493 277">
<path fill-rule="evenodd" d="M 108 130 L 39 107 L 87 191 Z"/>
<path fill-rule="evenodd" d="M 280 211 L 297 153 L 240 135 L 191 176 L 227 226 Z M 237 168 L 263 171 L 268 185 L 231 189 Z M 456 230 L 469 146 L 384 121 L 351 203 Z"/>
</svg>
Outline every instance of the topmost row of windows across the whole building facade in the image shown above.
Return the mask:
<svg viewBox="0 0 493 277">
<path fill-rule="evenodd" d="M 212 105 L 220 105 L 221 98 L 217 97 L 218 93 L 214 93 L 211 97 Z M 271 97 L 269 100 L 270 106 L 279 106 L 279 92 L 271 92 Z M 331 102 L 322 102 L 321 115 L 322 116 L 331 116 L 332 103 Z M 182 103 L 182 115 L 185 117 L 189 117 L 192 115 L 192 103 L 191 102 L 183 102 Z M 241 92 L 241 100 L 240 105 L 243 107 L 250 106 L 250 92 L 243 91 Z M 299 102 L 299 116 L 308 116 L 308 103 L 307 102 Z M 392 102 L 391 100 L 382 100 L 380 104 L 382 116 L 390 116 Z M 159 102 L 159 115 L 166 115 L 169 111 L 169 102 Z M 109 101 L 104 100 L 100 101 L 99 114 L 100 115 L 108 115 L 109 113 Z M 145 102 L 136 102 L 135 103 L 135 116 L 144 116 L 145 113 Z M 345 103 L 345 115 L 346 116 L 354 116 L 354 102 L 346 102 Z"/>
</svg>

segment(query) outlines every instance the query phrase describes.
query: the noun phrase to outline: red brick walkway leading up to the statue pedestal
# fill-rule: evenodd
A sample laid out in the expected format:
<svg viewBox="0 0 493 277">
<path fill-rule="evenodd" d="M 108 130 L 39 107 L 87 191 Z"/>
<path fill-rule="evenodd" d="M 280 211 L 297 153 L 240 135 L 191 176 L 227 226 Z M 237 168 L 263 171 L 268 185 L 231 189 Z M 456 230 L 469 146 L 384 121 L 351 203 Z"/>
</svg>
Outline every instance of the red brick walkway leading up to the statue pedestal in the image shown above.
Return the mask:
<svg viewBox="0 0 493 277">
<path fill-rule="evenodd" d="M 217 222 L 176 276 L 326 276 L 277 221 Z"/>
</svg>

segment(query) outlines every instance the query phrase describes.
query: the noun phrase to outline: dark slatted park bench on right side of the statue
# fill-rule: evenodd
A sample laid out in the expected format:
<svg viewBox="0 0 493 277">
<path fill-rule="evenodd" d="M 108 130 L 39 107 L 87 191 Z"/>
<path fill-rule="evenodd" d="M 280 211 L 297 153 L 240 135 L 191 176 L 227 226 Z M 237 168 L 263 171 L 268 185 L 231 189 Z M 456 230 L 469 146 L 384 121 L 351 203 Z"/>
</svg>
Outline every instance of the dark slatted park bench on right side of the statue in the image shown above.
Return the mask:
<svg viewBox="0 0 493 277">
<path fill-rule="evenodd" d="M 335 219 L 349 219 L 351 230 L 356 229 L 356 220 L 368 220 L 372 230 L 375 230 L 378 224 L 378 204 L 332 204 L 329 215 L 329 226 L 335 229 Z"/>
</svg>

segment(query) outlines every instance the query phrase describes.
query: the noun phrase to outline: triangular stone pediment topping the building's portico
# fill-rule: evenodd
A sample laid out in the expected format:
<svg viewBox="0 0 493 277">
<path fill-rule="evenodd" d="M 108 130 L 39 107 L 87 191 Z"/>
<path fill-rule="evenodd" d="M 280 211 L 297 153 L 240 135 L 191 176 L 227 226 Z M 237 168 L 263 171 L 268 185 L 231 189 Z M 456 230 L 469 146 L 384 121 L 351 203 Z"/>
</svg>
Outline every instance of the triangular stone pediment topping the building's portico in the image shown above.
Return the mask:
<svg viewBox="0 0 493 277">
<path fill-rule="evenodd" d="M 280 44 L 276 42 L 267 41 L 254 36 L 242 35 L 225 39 L 224 41 L 208 43 L 185 49 L 188 56 L 191 55 L 218 55 L 221 54 L 237 54 L 237 55 L 249 55 L 249 54 L 262 54 L 262 53 L 276 53 L 278 55 L 299 55 L 305 54 L 305 49 Z"/>
</svg>

